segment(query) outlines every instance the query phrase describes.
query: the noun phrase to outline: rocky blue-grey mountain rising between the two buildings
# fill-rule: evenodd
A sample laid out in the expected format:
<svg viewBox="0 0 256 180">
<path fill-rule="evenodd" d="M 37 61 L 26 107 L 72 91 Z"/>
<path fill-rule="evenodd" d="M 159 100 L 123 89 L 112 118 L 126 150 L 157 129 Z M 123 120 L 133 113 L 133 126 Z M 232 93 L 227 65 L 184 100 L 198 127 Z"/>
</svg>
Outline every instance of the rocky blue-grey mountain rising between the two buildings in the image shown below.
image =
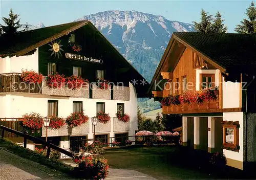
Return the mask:
<svg viewBox="0 0 256 180">
<path fill-rule="evenodd" d="M 191 24 L 138 11 L 104 11 L 75 21 L 86 19 L 148 82 L 151 82 L 173 32 L 195 31 Z M 138 105 L 143 113 L 160 108 L 159 102 L 148 98 L 139 99 Z"/>
</svg>

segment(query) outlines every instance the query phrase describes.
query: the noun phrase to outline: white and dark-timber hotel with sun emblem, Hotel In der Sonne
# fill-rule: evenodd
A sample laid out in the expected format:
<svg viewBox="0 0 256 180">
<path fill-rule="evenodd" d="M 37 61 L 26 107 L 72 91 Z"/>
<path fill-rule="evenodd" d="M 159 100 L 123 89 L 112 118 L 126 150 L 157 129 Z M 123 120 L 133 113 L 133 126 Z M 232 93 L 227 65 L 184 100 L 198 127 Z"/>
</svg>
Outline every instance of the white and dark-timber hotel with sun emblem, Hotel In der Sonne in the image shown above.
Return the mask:
<svg viewBox="0 0 256 180">
<path fill-rule="evenodd" d="M 96 139 L 104 143 L 114 140 L 120 142 L 128 135 L 134 135 L 138 128 L 137 98 L 147 97 L 149 84 L 90 21 L 2 35 L 0 42 L 2 124 L 20 130 L 17 123 L 15 125 L 12 121 L 27 113 L 66 118 L 83 109 L 89 118 L 95 117 L 98 111 L 104 111 L 111 117 L 108 123 L 97 123 Z M 35 88 L 30 88 L 28 84 L 18 85 L 22 83 L 22 69 L 41 73 L 44 76 L 42 83 Z M 54 73 L 80 76 L 89 82 L 97 82 L 97 78 L 103 78 L 111 82 L 111 88 L 99 89 L 95 84 L 90 84 L 90 88 L 72 91 L 65 86 L 49 88 L 45 77 Z M 133 85 L 132 80 L 137 80 L 138 83 Z M 140 81 L 145 83 L 141 84 Z M 117 110 L 128 114 L 130 121 L 124 123 L 117 120 Z M 67 126 L 58 130 L 49 129 L 48 140 L 63 149 L 79 150 L 87 139 L 93 139 L 93 132 L 89 119 L 87 123 L 74 127 L 71 131 Z M 33 133 L 35 132 L 32 135 Z M 46 137 L 44 126 L 37 136 Z M 116 139 L 108 139 L 110 137 Z M 23 141 L 18 138 L 12 140 Z M 33 145 L 28 147 L 34 149 Z"/>
</svg>

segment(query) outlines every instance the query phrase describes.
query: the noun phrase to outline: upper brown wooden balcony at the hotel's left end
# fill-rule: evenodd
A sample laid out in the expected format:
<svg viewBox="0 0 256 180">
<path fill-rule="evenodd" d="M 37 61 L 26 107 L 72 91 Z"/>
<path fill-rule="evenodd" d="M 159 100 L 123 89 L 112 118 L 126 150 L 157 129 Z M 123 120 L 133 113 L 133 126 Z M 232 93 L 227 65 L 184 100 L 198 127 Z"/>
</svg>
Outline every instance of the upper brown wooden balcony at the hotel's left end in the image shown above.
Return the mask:
<svg viewBox="0 0 256 180">
<path fill-rule="evenodd" d="M 37 93 L 41 94 L 41 84 L 28 84 L 20 79 L 19 73 L 0 74 L 0 93 Z"/>
</svg>

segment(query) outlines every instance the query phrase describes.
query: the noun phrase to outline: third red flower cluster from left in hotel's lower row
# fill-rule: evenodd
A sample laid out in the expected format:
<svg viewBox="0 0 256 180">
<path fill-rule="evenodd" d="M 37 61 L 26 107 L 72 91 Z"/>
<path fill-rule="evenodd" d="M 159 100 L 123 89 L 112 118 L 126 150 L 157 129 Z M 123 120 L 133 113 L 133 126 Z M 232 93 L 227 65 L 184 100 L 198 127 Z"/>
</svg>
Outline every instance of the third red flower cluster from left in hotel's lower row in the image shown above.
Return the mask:
<svg viewBox="0 0 256 180">
<path fill-rule="evenodd" d="M 66 123 L 69 127 L 77 127 L 81 124 L 87 123 L 89 117 L 83 114 L 83 111 L 71 113 L 70 116 L 66 118 Z"/>
</svg>

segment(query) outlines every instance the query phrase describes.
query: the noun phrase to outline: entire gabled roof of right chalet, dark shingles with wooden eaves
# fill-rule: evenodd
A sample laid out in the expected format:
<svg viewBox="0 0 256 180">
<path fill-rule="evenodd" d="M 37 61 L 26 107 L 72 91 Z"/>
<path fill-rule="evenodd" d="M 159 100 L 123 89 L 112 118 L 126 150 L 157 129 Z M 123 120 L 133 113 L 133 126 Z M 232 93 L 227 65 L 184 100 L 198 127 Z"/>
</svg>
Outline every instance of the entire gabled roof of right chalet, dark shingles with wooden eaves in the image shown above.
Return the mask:
<svg viewBox="0 0 256 180">
<path fill-rule="evenodd" d="M 154 80 L 159 78 L 168 54 L 177 41 L 198 53 L 224 74 L 256 74 L 255 34 L 174 32 L 152 79 L 151 88 Z M 176 64 L 178 61 L 179 59 Z M 175 66 L 170 68 L 173 71 Z"/>
</svg>

